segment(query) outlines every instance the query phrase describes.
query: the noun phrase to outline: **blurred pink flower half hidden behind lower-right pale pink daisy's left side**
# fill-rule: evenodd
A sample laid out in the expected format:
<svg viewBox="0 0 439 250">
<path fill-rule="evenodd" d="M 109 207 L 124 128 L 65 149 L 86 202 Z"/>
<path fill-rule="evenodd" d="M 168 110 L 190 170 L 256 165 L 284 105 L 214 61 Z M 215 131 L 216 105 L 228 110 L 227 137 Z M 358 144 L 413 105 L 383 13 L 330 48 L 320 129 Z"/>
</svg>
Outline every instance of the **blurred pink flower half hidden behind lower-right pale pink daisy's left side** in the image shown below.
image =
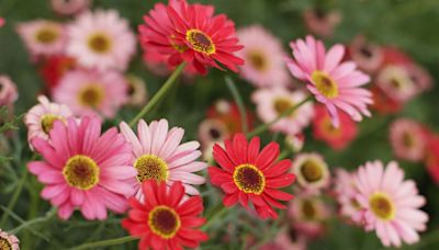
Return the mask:
<svg viewBox="0 0 439 250">
<path fill-rule="evenodd" d="M 335 171 L 334 191 L 336 193 L 337 202 L 340 205 L 340 214 L 354 223 L 360 223 L 354 217 L 357 212 L 361 208 L 356 200 L 358 190 L 354 184 L 354 173 L 350 173 L 344 169 Z"/>
</svg>

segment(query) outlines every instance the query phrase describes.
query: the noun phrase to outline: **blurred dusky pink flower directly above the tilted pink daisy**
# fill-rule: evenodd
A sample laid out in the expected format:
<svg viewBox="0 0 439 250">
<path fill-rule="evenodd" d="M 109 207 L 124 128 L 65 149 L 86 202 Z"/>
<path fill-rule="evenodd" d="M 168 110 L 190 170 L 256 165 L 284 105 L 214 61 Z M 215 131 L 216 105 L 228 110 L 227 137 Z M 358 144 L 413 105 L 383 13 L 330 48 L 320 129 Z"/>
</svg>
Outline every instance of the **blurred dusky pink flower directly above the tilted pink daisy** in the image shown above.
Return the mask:
<svg viewBox="0 0 439 250">
<path fill-rule="evenodd" d="M 337 11 L 306 10 L 303 20 L 311 33 L 328 37 L 333 36 L 335 27 L 340 23 L 341 14 Z"/>
</svg>

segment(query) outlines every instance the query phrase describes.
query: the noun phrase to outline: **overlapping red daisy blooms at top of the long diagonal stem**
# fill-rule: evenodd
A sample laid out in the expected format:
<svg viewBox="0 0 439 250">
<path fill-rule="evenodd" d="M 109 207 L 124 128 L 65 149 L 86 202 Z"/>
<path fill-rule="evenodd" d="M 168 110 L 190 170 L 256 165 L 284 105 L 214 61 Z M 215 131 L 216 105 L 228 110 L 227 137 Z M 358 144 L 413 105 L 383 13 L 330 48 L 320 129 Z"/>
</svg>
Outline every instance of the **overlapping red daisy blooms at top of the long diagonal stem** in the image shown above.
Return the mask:
<svg viewBox="0 0 439 250">
<path fill-rule="evenodd" d="M 185 0 L 170 1 L 168 7 L 156 4 L 139 26 L 140 41 L 169 56 L 171 66 L 187 61 L 204 75 L 209 67 L 223 69 L 219 63 L 237 71 L 244 60 L 235 55 L 243 48 L 235 24 L 226 15 L 213 13 L 212 5 L 188 4 Z"/>
</svg>

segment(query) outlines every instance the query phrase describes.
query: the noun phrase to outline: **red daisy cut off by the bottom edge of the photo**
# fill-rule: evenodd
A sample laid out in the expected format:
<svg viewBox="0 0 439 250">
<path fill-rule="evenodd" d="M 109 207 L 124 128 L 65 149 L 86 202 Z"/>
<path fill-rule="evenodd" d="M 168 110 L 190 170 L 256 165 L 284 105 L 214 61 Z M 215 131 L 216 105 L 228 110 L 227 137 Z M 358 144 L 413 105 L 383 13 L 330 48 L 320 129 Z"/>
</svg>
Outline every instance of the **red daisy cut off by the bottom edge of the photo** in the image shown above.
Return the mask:
<svg viewBox="0 0 439 250">
<path fill-rule="evenodd" d="M 139 237 L 139 249 L 196 248 L 207 235 L 194 229 L 205 223 L 199 217 L 203 212 L 201 196 L 183 198 L 183 184 L 175 182 L 169 189 L 166 183 L 145 181 L 142 186 L 145 201 L 132 197 L 128 202 L 128 218 L 122 226 L 132 236 Z"/>
</svg>

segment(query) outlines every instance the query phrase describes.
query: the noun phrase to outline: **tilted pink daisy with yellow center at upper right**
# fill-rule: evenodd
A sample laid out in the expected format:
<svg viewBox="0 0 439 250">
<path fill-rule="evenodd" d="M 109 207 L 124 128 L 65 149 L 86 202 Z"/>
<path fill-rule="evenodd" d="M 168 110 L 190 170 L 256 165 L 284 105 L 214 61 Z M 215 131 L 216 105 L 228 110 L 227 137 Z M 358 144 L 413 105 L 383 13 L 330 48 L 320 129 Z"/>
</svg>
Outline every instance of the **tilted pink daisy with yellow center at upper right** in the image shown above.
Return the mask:
<svg viewBox="0 0 439 250">
<path fill-rule="evenodd" d="M 307 82 L 307 89 L 318 102 L 326 105 L 336 127 L 339 110 L 359 122 L 362 115 L 371 116 L 368 104 L 372 103 L 369 90 L 360 88 L 370 77 L 359 70 L 353 61 L 341 63 L 345 47 L 340 44 L 326 52 L 322 41 L 306 36 L 306 41 L 290 43 L 294 59 L 288 58 L 291 73 Z"/>
</svg>

